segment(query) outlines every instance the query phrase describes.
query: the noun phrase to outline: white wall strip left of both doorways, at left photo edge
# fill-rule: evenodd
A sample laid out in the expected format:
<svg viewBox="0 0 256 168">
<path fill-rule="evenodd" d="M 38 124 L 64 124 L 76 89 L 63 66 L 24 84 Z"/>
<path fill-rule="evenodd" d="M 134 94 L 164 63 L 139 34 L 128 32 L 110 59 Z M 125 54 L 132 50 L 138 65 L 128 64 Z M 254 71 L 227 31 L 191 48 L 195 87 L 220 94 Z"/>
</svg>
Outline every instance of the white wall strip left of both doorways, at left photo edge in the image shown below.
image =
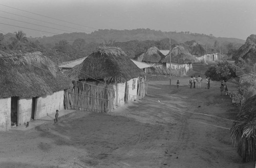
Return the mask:
<svg viewBox="0 0 256 168">
<path fill-rule="evenodd" d="M 0 131 L 11 128 L 11 98 L 0 99 Z"/>
</svg>

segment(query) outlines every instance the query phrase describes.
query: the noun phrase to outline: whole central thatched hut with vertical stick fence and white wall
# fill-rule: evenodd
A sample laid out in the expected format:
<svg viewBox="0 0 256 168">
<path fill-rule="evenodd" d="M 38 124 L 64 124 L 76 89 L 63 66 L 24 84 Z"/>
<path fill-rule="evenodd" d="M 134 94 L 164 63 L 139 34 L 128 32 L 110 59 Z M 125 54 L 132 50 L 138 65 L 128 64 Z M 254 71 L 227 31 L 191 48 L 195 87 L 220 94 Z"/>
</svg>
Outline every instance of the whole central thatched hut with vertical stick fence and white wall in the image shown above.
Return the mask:
<svg viewBox="0 0 256 168">
<path fill-rule="evenodd" d="M 77 80 L 66 91 L 66 108 L 110 112 L 145 96 L 145 73 L 118 47 L 100 47 L 65 72 Z"/>
</svg>

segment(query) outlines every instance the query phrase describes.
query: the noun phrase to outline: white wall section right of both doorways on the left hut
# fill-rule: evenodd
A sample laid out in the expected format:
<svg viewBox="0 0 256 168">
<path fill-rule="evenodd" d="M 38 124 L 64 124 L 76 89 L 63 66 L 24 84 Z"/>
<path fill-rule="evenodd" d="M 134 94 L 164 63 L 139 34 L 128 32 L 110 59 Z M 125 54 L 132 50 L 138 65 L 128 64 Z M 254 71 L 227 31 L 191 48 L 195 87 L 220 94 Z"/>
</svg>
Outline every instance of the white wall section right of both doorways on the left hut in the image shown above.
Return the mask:
<svg viewBox="0 0 256 168">
<path fill-rule="evenodd" d="M 64 91 L 54 92 L 52 95 L 37 99 L 35 119 L 55 113 L 56 110 L 63 110 Z M 32 106 L 31 106 L 32 107 Z"/>
</svg>

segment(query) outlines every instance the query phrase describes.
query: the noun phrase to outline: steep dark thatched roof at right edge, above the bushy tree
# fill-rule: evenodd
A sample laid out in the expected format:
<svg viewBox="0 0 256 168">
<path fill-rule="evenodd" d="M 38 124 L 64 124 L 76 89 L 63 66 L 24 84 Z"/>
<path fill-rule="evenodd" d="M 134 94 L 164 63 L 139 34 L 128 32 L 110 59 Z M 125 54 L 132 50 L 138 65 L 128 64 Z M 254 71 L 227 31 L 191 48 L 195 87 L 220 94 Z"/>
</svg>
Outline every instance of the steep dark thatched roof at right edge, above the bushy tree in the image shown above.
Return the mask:
<svg viewBox="0 0 256 168">
<path fill-rule="evenodd" d="M 252 34 L 247 37 L 245 44 L 234 54 L 234 58 L 249 59 L 253 63 L 256 62 L 256 35 Z"/>
</svg>

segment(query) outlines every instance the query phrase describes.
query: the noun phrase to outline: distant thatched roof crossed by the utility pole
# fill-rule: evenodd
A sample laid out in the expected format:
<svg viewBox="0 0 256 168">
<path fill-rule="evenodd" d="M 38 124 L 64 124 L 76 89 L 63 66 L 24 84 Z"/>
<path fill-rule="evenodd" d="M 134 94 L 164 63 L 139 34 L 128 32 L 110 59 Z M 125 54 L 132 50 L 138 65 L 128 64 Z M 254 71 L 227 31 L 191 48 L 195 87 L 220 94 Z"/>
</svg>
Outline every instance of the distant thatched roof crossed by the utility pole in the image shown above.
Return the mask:
<svg viewBox="0 0 256 168">
<path fill-rule="evenodd" d="M 172 62 L 190 63 L 196 61 L 196 57 L 188 53 L 188 51 L 181 45 L 174 45 L 173 49 L 170 51 L 170 54 L 172 55 Z M 170 55 L 166 55 L 161 62 L 170 62 Z"/>
</svg>

